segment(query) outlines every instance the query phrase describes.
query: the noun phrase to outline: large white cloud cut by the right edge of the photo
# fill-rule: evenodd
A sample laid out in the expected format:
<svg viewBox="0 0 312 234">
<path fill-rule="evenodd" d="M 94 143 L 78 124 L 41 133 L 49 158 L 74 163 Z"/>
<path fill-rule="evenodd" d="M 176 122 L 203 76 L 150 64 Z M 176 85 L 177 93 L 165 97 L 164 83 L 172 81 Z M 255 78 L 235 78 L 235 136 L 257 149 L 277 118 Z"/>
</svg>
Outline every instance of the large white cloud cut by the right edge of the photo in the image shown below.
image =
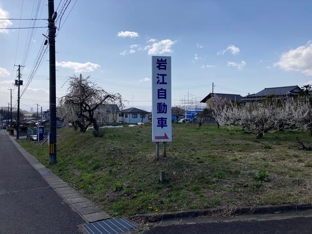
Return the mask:
<svg viewBox="0 0 312 234">
<path fill-rule="evenodd" d="M 279 66 L 285 71 L 296 71 L 312 76 L 312 41 L 282 54 L 274 66 Z"/>
</svg>

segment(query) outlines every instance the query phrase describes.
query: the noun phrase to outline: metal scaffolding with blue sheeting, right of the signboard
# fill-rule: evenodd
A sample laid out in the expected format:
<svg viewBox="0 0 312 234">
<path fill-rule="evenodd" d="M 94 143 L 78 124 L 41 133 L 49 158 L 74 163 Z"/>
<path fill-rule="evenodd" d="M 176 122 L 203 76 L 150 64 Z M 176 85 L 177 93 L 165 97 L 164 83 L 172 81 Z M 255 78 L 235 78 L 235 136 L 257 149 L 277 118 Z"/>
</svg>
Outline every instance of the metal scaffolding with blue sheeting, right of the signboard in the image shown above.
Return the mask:
<svg viewBox="0 0 312 234">
<path fill-rule="evenodd" d="M 191 120 L 206 108 L 206 103 L 201 103 L 202 98 L 188 93 L 184 98 L 180 99 L 180 107 L 185 110 L 185 118 Z"/>
</svg>

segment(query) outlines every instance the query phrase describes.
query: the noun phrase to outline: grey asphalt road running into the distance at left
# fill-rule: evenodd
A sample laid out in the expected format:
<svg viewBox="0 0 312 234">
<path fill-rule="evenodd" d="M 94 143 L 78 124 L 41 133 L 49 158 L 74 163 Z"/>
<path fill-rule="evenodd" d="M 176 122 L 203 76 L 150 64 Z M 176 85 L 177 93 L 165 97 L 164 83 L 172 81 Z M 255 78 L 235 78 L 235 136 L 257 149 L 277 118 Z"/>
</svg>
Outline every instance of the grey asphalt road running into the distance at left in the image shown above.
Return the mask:
<svg viewBox="0 0 312 234">
<path fill-rule="evenodd" d="M 82 223 L 0 130 L 0 234 L 79 234 Z"/>
</svg>

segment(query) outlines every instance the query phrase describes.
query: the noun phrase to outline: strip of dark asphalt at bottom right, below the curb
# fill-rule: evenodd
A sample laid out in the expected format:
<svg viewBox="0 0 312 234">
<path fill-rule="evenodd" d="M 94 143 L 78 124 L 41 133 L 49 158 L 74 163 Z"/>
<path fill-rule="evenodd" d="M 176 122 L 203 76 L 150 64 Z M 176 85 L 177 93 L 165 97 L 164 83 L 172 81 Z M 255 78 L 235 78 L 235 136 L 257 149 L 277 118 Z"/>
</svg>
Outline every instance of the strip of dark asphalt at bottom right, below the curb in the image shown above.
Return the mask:
<svg viewBox="0 0 312 234">
<path fill-rule="evenodd" d="M 144 234 L 312 234 L 312 217 L 158 226 Z"/>
</svg>

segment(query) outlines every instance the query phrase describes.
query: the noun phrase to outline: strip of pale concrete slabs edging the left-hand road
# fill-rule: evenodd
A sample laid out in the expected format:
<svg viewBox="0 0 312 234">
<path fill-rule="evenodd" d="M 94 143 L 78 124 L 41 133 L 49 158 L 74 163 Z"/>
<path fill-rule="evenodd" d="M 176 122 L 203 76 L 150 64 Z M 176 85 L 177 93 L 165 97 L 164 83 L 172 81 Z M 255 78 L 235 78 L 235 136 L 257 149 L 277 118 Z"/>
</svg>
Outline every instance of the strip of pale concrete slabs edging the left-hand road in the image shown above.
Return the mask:
<svg viewBox="0 0 312 234">
<path fill-rule="evenodd" d="M 6 132 L 6 131 L 5 131 Z M 7 132 L 6 134 L 10 137 L 13 144 L 20 151 L 22 156 L 39 172 L 42 170 L 49 170 L 44 165 L 42 165 L 34 156 L 29 154 L 20 144 Z M 111 218 L 110 215 L 101 211 L 98 206 L 96 206 L 89 199 L 81 196 L 76 190 L 72 189 L 67 183 L 65 183 L 58 176 L 52 174 L 41 175 L 45 181 L 60 195 L 63 200 L 70 205 L 70 207 L 78 213 L 78 215 L 85 220 L 87 223 L 96 222 L 100 220 L 105 220 Z M 88 209 L 83 209 L 88 208 Z"/>
</svg>

